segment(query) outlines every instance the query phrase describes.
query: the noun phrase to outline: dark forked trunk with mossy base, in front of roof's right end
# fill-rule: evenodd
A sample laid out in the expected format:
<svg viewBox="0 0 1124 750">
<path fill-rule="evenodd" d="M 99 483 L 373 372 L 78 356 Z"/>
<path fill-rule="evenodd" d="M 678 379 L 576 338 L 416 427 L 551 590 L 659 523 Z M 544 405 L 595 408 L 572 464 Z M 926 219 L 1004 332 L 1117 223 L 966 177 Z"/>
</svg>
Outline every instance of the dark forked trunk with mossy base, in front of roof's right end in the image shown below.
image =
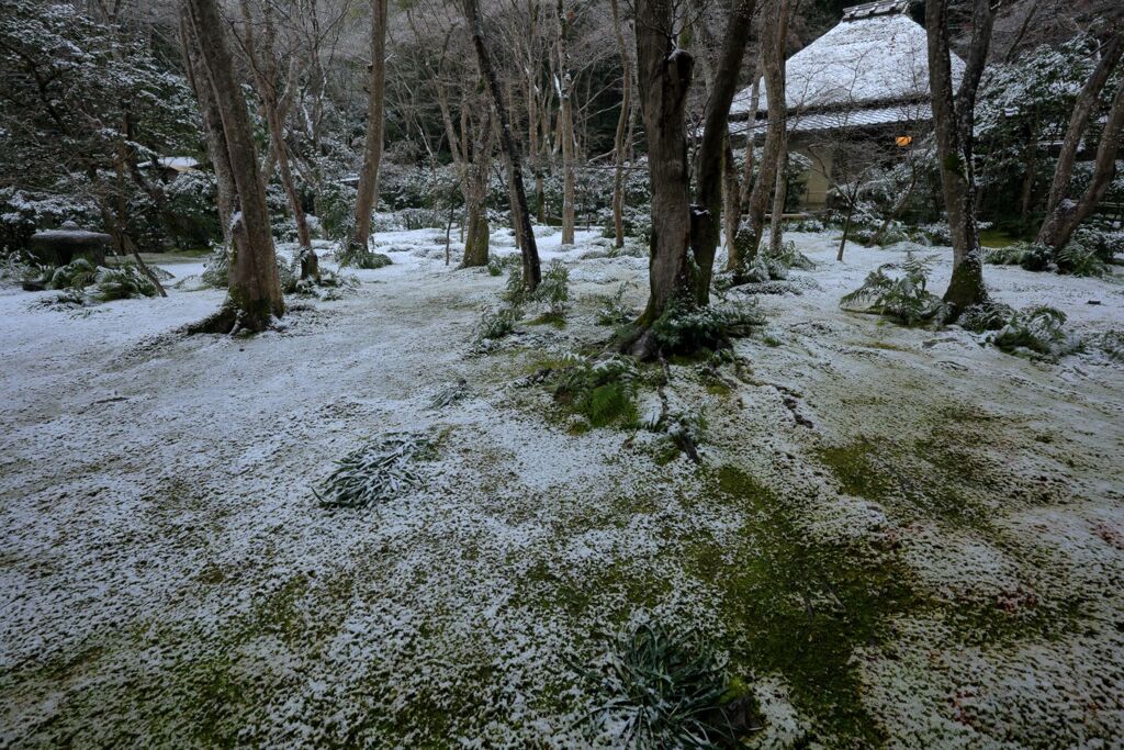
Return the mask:
<svg viewBox="0 0 1124 750">
<path fill-rule="evenodd" d="M 991 40 L 995 11 L 990 0 L 975 0 L 972 38 L 964 75 L 953 98 L 949 60 L 949 0 L 928 0 L 925 28 L 928 37 L 928 79 L 933 92 L 933 120 L 941 189 L 952 233 L 952 279 L 944 292 L 952 318 L 987 299 L 984 254 L 976 224 L 976 180 L 972 172 L 972 125 L 976 93 Z"/>
</svg>

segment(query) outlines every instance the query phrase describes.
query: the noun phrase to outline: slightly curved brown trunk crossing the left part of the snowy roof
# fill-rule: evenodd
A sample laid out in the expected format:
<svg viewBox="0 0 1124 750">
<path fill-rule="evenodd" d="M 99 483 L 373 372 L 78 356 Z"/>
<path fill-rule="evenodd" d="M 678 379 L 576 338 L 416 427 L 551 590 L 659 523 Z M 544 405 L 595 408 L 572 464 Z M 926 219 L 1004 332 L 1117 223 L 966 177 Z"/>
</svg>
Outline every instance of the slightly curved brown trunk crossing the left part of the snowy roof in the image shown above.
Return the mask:
<svg viewBox="0 0 1124 750">
<path fill-rule="evenodd" d="M 765 225 L 765 208 L 777 179 L 777 165 L 783 147 L 788 105 L 785 99 L 785 39 L 788 37 L 789 0 L 774 0 L 762 31 L 761 63 L 765 74 L 765 99 L 769 102 L 769 128 L 765 132 L 764 153 L 758 169 L 753 190 L 746 206 L 749 235 L 740 241 L 729 254 L 728 269 L 741 274 L 753 260 L 761 244 Z"/>
</svg>

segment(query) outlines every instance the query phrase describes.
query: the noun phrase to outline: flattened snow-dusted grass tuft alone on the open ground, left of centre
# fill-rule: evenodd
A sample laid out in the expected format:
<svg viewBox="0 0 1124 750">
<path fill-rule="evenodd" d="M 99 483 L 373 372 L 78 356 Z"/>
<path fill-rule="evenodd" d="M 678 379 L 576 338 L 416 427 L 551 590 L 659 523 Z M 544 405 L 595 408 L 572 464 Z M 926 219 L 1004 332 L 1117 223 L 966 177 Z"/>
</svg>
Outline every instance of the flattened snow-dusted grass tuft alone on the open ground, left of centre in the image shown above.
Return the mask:
<svg viewBox="0 0 1124 750">
<path fill-rule="evenodd" d="M 424 485 L 418 462 L 436 458 L 433 443 L 416 433 L 390 433 L 336 462 L 312 490 L 325 507 L 363 508 Z"/>
</svg>

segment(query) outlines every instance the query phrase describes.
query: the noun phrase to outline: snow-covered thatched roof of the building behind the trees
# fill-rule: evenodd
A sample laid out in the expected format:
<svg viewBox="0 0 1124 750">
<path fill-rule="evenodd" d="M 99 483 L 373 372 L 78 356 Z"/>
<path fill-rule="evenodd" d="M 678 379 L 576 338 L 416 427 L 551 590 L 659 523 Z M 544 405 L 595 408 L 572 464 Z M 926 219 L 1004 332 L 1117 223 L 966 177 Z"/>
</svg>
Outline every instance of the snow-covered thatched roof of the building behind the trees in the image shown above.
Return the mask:
<svg viewBox="0 0 1124 750">
<path fill-rule="evenodd" d="M 789 110 L 862 108 L 928 99 L 925 29 L 907 15 L 905 0 L 879 0 L 843 11 L 843 20 L 792 55 L 785 65 Z M 964 63 L 952 55 L 959 82 Z M 758 111 L 764 111 L 765 84 L 760 83 Z M 751 88 L 734 98 L 731 115 L 745 116 Z"/>
</svg>

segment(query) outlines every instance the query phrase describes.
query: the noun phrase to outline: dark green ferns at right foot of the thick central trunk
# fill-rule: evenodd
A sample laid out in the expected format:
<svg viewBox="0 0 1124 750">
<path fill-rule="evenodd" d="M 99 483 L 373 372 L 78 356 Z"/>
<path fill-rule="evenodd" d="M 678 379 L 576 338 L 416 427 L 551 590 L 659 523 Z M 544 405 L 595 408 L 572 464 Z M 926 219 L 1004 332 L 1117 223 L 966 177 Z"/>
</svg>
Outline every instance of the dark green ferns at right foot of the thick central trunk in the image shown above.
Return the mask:
<svg viewBox="0 0 1124 750">
<path fill-rule="evenodd" d="M 652 325 L 652 333 L 665 354 L 690 354 L 729 347 L 765 323 L 754 302 L 726 301 L 687 308 L 673 304 Z"/>
</svg>

